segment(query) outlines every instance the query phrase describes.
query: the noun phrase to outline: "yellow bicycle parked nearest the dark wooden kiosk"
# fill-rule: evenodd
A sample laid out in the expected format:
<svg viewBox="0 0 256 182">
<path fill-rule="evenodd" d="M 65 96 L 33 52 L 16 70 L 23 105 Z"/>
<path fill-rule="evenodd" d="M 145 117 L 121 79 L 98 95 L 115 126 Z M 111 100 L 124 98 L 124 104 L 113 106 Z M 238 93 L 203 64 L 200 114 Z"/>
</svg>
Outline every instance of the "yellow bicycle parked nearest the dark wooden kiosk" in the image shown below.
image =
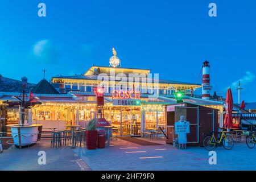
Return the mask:
<svg viewBox="0 0 256 182">
<path fill-rule="evenodd" d="M 221 138 L 220 140 L 216 140 L 214 133 L 212 132 L 212 135 L 208 135 L 204 138 L 204 148 L 206 150 L 213 150 L 214 148 L 216 148 L 218 145 L 221 145 L 226 149 L 226 150 L 230 150 L 233 148 L 234 146 L 234 140 L 232 137 L 230 137 L 229 135 L 225 135 L 224 131 L 220 131 L 221 133 Z"/>
</svg>

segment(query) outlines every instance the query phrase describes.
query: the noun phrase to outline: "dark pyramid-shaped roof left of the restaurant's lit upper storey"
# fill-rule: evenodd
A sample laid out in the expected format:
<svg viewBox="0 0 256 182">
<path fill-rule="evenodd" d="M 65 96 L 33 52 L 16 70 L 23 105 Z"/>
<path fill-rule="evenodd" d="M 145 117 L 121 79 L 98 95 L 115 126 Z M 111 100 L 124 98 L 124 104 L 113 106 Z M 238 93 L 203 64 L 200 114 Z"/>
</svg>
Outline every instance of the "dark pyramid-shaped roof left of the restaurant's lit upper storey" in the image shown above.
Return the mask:
<svg viewBox="0 0 256 182">
<path fill-rule="evenodd" d="M 39 81 L 32 89 L 32 93 L 60 94 L 46 79 Z"/>
</svg>

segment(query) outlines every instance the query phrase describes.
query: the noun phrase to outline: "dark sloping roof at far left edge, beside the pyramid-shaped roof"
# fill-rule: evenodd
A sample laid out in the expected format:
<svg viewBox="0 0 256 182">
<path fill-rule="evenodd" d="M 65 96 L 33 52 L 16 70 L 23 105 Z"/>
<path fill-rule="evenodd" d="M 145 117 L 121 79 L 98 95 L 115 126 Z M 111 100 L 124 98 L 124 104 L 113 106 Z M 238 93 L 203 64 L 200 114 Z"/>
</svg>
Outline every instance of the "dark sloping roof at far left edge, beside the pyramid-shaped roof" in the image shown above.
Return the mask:
<svg viewBox="0 0 256 182">
<path fill-rule="evenodd" d="M 14 80 L 7 77 L 0 77 L 0 92 L 19 92 L 22 93 L 22 81 Z M 28 93 L 29 90 L 35 86 L 35 84 L 27 83 L 25 92 Z"/>
</svg>

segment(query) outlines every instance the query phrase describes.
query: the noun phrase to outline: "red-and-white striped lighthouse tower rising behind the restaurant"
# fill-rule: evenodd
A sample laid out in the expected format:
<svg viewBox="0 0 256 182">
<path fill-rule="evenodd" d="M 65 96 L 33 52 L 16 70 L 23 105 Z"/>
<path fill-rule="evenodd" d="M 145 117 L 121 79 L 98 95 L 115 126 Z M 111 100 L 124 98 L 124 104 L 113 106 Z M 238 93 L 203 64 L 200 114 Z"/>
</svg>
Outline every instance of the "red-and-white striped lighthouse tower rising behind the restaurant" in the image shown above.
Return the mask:
<svg viewBox="0 0 256 182">
<path fill-rule="evenodd" d="M 210 65 L 208 61 L 203 63 L 203 83 L 202 83 L 202 98 L 205 100 L 210 100 Z"/>
</svg>

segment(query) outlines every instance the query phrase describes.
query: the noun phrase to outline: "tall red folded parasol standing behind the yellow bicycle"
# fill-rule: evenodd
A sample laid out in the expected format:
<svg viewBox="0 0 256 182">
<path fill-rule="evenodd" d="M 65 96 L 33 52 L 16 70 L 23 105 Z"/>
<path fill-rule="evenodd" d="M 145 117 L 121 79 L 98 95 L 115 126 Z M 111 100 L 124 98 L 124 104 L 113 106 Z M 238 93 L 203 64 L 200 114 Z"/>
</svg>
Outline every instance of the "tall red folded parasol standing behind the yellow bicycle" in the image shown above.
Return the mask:
<svg viewBox="0 0 256 182">
<path fill-rule="evenodd" d="M 228 88 L 228 92 L 226 92 L 226 114 L 224 119 L 224 126 L 230 129 L 232 127 L 232 110 L 233 110 L 233 97 L 231 89 Z"/>
</svg>

